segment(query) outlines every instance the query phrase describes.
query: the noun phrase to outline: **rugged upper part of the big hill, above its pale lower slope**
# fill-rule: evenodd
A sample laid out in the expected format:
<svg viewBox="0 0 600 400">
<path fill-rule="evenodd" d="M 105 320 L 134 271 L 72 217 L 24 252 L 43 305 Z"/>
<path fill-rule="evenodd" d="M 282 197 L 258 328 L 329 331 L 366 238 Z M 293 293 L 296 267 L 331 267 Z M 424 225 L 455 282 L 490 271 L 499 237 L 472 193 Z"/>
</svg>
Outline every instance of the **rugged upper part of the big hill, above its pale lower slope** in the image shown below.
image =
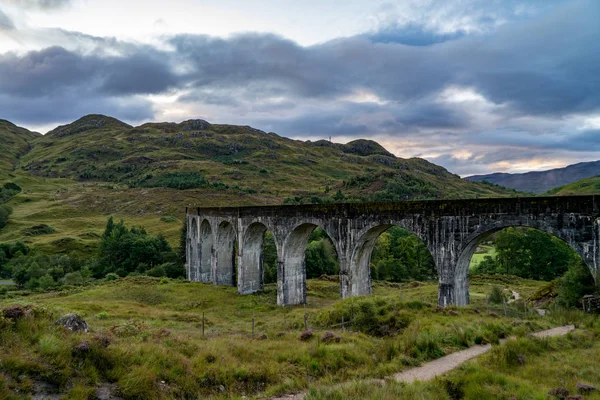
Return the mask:
<svg viewBox="0 0 600 400">
<path fill-rule="evenodd" d="M 132 127 L 88 115 L 32 144 L 20 166 L 37 176 L 194 188 L 232 198 L 251 193 L 271 203 L 286 198 L 314 202 L 334 195 L 336 200 L 395 201 L 514 193 L 465 181 L 423 159 L 395 157 L 371 140 L 302 142 L 204 120 Z"/>
</svg>

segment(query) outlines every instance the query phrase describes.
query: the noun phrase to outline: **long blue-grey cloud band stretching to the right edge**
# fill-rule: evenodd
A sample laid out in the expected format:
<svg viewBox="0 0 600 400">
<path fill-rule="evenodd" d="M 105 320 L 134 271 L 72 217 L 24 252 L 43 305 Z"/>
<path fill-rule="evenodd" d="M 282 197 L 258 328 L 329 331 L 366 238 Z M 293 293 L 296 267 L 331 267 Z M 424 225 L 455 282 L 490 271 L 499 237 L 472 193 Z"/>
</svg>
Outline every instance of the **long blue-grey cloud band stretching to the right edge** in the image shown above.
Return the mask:
<svg viewBox="0 0 600 400">
<path fill-rule="evenodd" d="M 600 108 L 600 3 L 569 3 L 539 20 L 435 46 L 365 37 L 300 47 L 274 35 L 171 39 L 194 87 L 278 87 L 286 96 L 335 99 L 356 90 L 416 102 L 450 85 L 472 87 L 515 115 L 565 115 Z"/>
</svg>

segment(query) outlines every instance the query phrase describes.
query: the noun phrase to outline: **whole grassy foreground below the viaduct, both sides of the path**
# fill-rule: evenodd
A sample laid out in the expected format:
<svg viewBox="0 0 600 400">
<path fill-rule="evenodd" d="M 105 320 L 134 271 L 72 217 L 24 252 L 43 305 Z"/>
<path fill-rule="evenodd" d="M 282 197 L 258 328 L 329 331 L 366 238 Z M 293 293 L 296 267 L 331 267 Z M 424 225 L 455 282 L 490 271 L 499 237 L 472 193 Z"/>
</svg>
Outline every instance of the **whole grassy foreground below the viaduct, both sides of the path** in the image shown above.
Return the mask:
<svg viewBox="0 0 600 400">
<path fill-rule="evenodd" d="M 574 393 L 580 381 L 600 385 L 591 367 L 598 359 L 592 355 L 600 356 L 596 317 L 542 317 L 523 301 L 486 305 L 493 285 L 526 298 L 543 283 L 475 278 L 472 304 L 455 310 L 435 306 L 434 283 L 375 283 L 372 296 L 340 300 L 333 278 L 308 281 L 306 308 L 278 307 L 274 286 L 240 296 L 234 288 L 148 277 L 29 296 L 9 292 L 0 308 L 22 304 L 30 311 L 16 321 L 0 319 L 0 397 L 28 398 L 46 388 L 87 399 L 108 387 L 126 399 L 269 398 L 306 389 L 308 399 L 537 399 L 555 386 Z M 87 321 L 90 334 L 53 324 L 70 312 Z M 305 315 L 312 335 L 302 334 Z M 567 323 L 576 323 L 577 332 L 524 338 Z M 510 336 L 520 339 L 429 383 L 370 381 Z M 540 364 L 552 369 L 543 381 L 531 370 Z M 350 383 L 339 388 L 342 382 Z"/>
</svg>

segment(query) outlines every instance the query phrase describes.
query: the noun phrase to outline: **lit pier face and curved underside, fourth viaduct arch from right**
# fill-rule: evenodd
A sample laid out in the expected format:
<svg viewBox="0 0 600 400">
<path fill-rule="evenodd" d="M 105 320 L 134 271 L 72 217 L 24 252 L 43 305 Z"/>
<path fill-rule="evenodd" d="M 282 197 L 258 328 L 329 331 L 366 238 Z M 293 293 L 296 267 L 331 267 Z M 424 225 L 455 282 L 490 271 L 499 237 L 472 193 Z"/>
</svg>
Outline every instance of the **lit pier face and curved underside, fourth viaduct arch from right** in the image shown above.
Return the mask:
<svg viewBox="0 0 600 400">
<path fill-rule="evenodd" d="M 240 246 L 238 292 L 249 294 L 264 289 L 263 244 L 268 230 L 262 222 L 253 222 L 245 230 Z M 277 246 L 277 241 L 275 241 Z"/>
</svg>

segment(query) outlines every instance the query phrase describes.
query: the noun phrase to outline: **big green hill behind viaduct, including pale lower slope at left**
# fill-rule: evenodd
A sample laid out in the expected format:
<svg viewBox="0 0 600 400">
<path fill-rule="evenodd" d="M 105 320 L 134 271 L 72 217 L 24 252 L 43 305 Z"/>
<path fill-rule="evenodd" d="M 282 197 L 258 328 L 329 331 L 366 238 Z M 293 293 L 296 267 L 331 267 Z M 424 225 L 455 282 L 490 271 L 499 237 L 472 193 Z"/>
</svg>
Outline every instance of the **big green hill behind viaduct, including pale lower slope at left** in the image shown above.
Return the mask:
<svg viewBox="0 0 600 400">
<path fill-rule="evenodd" d="M 10 123 L 12 145 L 0 185 L 23 190 L 0 242 L 48 251 L 93 248 L 109 215 L 178 242 L 188 205 L 267 205 L 331 201 L 509 196 L 420 158 L 402 159 L 370 140 L 303 142 L 249 126 L 203 120 L 132 127 L 88 115 L 41 136 Z M 17 135 L 16 133 L 19 133 Z M 20 156 L 20 158 L 19 158 Z M 18 164 L 17 164 L 18 160 Z M 171 217 L 171 218 L 165 218 Z M 30 235 L 46 224 L 52 230 Z"/>
</svg>

